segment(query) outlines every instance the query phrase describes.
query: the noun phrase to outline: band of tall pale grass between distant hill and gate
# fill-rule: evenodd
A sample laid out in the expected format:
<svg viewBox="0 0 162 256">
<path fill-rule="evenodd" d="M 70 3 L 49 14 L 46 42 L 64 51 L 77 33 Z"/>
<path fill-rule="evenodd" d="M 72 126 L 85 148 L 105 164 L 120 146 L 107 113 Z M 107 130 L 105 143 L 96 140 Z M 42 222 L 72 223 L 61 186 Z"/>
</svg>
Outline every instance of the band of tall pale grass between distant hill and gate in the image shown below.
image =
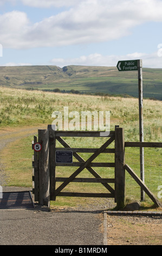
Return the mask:
<svg viewBox="0 0 162 256">
<path fill-rule="evenodd" d="M 54 111 L 110 111 L 111 129 L 120 125 L 126 139 L 139 140 L 138 99 L 48 93 L 21 89 L 0 88 L 0 126 L 51 124 Z M 145 141 L 161 141 L 161 101 L 144 100 Z"/>
</svg>

